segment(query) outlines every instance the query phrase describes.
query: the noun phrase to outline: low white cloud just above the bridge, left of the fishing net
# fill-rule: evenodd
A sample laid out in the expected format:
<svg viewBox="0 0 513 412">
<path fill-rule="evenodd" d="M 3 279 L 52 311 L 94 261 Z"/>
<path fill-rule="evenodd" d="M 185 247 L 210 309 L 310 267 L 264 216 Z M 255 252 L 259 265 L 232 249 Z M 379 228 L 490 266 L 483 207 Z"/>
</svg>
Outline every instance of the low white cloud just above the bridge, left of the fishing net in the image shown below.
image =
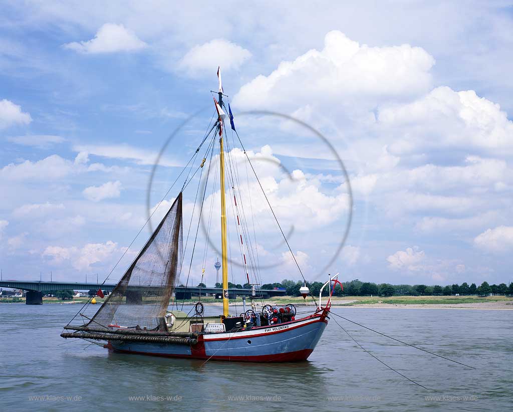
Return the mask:
<svg viewBox="0 0 513 412">
<path fill-rule="evenodd" d="M 77 270 L 88 270 L 91 265 L 105 263 L 118 250 L 117 243 L 107 241 L 106 243 L 88 243 L 82 248 L 48 246 L 42 256 L 49 257 L 50 263 L 54 265 L 63 265 L 69 261 Z"/>
</svg>

